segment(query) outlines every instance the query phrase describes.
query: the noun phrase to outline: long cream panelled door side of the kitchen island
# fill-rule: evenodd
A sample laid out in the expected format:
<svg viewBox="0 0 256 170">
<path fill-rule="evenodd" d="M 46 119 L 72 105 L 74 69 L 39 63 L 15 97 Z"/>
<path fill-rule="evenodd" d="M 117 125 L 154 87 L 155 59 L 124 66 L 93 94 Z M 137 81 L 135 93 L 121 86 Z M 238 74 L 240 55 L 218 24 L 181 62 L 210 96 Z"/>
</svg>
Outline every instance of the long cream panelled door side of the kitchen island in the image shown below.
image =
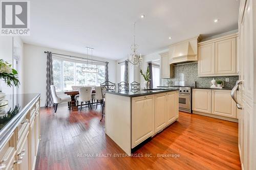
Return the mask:
<svg viewBox="0 0 256 170">
<path fill-rule="evenodd" d="M 132 148 L 179 117 L 179 92 L 132 98 Z"/>
</svg>

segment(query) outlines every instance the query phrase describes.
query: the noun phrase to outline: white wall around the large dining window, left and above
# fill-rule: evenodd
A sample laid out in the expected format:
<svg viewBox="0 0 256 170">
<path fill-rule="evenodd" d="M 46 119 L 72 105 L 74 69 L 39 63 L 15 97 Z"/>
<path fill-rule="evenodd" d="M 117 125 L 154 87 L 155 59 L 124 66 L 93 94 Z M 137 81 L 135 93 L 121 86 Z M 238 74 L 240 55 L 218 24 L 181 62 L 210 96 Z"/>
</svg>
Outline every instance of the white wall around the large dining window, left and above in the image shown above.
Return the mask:
<svg viewBox="0 0 256 170">
<path fill-rule="evenodd" d="M 86 57 L 54 48 L 24 44 L 24 93 L 41 93 L 41 106 L 45 106 L 46 100 L 46 54 L 45 51 L 60 53 L 78 57 Z M 98 57 L 96 60 L 109 62 L 109 81 L 116 82 L 116 62 Z"/>
</svg>

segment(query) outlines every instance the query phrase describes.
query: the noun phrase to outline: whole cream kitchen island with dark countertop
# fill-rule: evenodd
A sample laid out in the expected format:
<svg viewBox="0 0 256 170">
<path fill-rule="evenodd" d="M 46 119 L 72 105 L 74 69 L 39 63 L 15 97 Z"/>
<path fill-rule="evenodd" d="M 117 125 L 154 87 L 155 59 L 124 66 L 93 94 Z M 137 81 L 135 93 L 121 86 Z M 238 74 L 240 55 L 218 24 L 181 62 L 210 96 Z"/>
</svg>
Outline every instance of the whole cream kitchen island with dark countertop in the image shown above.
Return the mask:
<svg viewBox="0 0 256 170">
<path fill-rule="evenodd" d="M 126 153 L 178 120 L 178 89 L 106 91 L 105 133 Z"/>
</svg>

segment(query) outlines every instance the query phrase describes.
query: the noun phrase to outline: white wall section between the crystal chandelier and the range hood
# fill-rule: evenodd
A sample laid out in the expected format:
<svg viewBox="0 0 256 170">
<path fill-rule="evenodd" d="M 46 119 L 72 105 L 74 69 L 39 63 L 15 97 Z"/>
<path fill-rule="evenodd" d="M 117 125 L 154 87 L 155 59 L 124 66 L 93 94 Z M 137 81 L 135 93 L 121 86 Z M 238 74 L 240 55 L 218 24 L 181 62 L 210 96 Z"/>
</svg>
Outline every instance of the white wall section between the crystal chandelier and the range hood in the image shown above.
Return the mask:
<svg viewBox="0 0 256 170">
<path fill-rule="evenodd" d="M 160 59 L 159 54 L 167 52 L 167 51 L 168 51 L 168 49 L 142 56 L 143 57 L 143 61 L 141 63 L 142 71 L 143 72 L 146 71 L 148 62 L 151 62 L 154 60 L 159 60 Z M 161 71 L 161 64 L 160 64 L 160 71 Z M 141 88 L 144 88 L 144 81 L 145 81 L 144 78 L 140 75 L 140 87 Z"/>
</svg>

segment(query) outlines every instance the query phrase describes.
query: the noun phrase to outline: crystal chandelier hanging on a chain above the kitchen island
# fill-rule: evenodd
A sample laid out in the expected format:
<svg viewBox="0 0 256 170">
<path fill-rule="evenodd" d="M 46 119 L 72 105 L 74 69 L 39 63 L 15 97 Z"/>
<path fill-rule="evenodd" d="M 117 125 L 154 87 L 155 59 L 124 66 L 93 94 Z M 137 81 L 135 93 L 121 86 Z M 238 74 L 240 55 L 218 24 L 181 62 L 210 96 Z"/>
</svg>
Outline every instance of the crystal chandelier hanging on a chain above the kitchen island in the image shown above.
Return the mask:
<svg viewBox="0 0 256 170">
<path fill-rule="evenodd" d="M 131 50 L 132 50 L 132 53 L 130 54 L 130 57 L 127 59 L 130 63 L 132 63 L 133 65 L 140 65 L 141 62 L 142 62 L 142 57 L 141 57 L 141 54 L 138 54 L 138 45 L 135 43 L 135 24 L 136 22 L 134 22 L 134 43 L 133 45 L 131 46 Z"/>
</svg>

